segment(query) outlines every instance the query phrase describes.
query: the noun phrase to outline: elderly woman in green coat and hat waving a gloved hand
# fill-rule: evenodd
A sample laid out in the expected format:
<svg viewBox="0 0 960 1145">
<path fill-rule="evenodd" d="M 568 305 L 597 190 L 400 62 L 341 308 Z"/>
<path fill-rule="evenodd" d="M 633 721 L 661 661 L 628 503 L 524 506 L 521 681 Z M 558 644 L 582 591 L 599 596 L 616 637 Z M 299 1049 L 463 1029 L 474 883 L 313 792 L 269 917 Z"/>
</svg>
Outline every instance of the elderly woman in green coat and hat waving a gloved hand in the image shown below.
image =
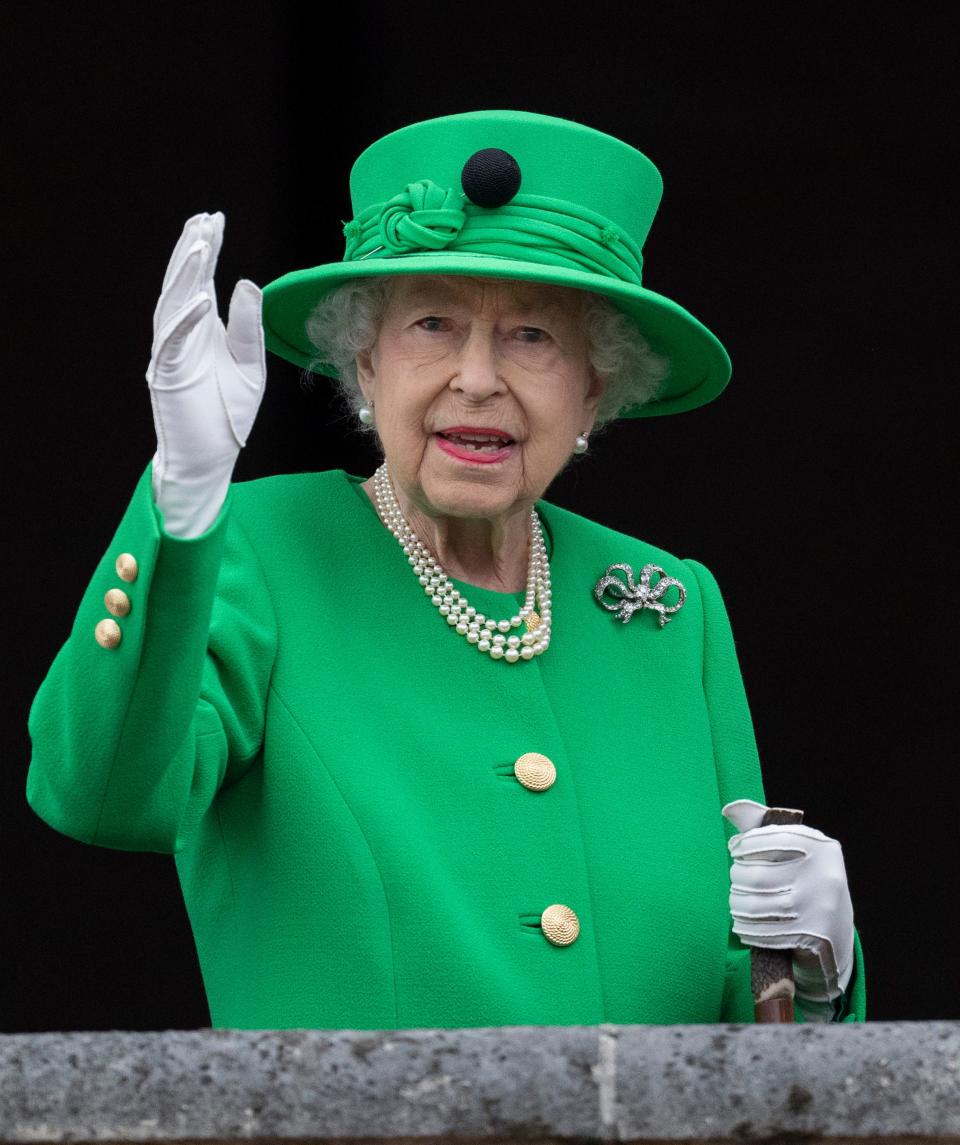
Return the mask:
<svg viewBox="0 0 960 1145">
<path fill-rule="evenodd" d="M 226 329 L 223 216 L 188 221 L 157 452 L 31 710 L 30 805 L 173 854 L 217 1027 L 750 1021 L 750 947 L 801 1020 L 861 1020 L 840 845 L 762 826 L 713 576 L 543 500 L 595 427 L 727 381 L 640 285 L 656 168 L 482 111 L 351 190 L 343 261 L 241 282 Z M 265 329 L 339 379 L 371 477 L 231 483 Z"/>
</svg>

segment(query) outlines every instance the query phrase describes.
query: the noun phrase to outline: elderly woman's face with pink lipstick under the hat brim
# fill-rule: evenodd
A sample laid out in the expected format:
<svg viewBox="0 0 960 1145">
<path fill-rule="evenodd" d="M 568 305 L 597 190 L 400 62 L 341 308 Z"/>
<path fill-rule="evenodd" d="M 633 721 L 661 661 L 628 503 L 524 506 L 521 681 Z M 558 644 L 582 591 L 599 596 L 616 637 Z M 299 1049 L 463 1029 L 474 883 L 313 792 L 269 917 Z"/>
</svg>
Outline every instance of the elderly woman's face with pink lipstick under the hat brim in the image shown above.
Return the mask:
<svg viewBox="0 0 960 1145">
<path fill-rule="evenodd" d="M 581 294 L 400 275 L 357 376 L 394 484 L 432 516 L 528 508 L 593 425 Z"/>
</svg>

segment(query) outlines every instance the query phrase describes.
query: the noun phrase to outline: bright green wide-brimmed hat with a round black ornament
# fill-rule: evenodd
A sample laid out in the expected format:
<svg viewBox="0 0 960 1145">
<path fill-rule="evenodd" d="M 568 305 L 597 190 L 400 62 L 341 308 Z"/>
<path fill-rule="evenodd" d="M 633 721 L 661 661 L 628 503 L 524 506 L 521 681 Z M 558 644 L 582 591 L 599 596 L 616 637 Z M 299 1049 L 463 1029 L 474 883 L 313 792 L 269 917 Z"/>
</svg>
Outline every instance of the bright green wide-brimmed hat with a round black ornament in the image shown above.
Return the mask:
<svg viewBox="0 0 960 1145">
<path fill-rule="evenodd" d="M 656 400 L 621 417 L 703 405 L 730 380 L 730 357 L 687 310 L 640 284 L 660 172 L 636 148 L 569 119 L 469 111 L 401 127 L 371 143 L 349 179 L 353 218 L 340 262 L 263 289 L 267 347 L 316 364 L 305 324 L 329 291 L 367 275 L 478 275 L 604 294 L 670 360 Z"/>
</svg>

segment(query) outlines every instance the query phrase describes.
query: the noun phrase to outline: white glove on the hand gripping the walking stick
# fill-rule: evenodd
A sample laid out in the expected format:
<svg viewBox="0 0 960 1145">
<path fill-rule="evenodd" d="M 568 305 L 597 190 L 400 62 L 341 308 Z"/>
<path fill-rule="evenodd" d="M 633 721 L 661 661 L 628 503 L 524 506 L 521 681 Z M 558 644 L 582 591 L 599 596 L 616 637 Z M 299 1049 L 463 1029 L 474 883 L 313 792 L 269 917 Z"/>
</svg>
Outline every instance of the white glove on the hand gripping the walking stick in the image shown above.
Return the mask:
<svg viewBox="0 0 960 1145">
<path fill-rule="evenodd" d="M 803 823 L 761 827 L 766 807 L 737 799 L 723 815 L 741 834 L 727 844 L 733 931 L 747 946 L 794 951 L 797 1001 L 828 1003 L 853 973 L 853 906 L 843 853 Z"/>
</svg>

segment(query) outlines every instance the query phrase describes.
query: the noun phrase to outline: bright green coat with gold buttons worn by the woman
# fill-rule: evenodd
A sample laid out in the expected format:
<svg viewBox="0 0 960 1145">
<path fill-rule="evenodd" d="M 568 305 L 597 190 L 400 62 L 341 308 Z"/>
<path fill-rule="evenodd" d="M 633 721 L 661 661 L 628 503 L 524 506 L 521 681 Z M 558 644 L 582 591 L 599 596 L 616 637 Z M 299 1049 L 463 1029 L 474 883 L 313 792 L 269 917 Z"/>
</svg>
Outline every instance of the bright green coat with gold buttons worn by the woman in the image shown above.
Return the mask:
<svg viewBox="0 0 960 1145">
<path fill-rule="evenodd" d="M 214 1027 L 752 1021 L 721 807 L 764 796 L 713 576 L 540 503 L 552 643 L 495 662 L 361 481 L 235 483 L 182 539 L 148 466 L 33 702 L 30 806 L 173 854 Z M 615 561 L 683 582 L 666 627 L 600 608 Z M 113 587 L 132 607 L 104 648 Z M 522 599 L 459 587 L 496 617 Z M 545 790 L 514 774 L 529 751 L 556 766 Z M 580 923 L 567 946 L 540 925 L 553 903 Z M 863 1018 L 857 940 L 844 1020 Z"/>
</svg>

